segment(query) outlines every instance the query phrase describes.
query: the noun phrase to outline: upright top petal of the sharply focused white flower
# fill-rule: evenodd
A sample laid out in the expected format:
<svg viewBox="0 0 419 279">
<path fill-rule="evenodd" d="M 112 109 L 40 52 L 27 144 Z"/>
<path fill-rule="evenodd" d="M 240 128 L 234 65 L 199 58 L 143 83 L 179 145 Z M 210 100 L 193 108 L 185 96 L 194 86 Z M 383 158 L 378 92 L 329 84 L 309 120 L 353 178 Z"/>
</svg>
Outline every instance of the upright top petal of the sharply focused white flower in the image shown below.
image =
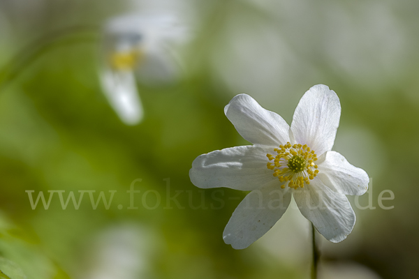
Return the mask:
<svg viewBox="0 0 419 279">
<path fill-rule="evenodd" d="M 307 144 L 317 155 L 332 150 L 341 106 L 335 91 L 318 84 L 302 96 L 293 116 L 291 129 L 295 142 Z"/>
</svg>

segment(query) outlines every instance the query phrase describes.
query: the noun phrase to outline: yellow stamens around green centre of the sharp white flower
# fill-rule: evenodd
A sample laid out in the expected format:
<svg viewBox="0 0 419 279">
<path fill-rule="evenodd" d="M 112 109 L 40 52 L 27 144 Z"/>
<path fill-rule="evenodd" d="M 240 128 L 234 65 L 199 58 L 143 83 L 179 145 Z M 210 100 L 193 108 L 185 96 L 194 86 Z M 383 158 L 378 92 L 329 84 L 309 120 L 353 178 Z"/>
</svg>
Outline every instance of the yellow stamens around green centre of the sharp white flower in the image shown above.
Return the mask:
<svg viewBox="0 0 419 279">
<path fill-rule="evenodd" d="M 317 176 L 318 169 L 314 163 L 317 160 L 317 155 L 307 144 L 291 145 L 287 142 L 274 151 L 277 152 L 277 155 L 266 154 L 269 159 L 267 168 L 272 169 L 273 175 L 278 177 L 281 183 L 284 183 L 281 188 L 284 189 L 287 183 L 288 187 L 294 189 L 303 188 L 304 184 L 309 185 L 310 180 Z"/>
</svg>

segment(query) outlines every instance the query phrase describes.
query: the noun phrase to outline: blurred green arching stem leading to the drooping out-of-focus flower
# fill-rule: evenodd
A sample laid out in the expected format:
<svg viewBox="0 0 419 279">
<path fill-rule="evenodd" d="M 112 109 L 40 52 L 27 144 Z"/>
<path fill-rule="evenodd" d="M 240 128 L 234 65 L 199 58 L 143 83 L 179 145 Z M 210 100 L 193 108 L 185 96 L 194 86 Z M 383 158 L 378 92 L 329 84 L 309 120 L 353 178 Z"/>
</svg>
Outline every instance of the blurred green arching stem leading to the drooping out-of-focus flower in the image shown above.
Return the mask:
<svg viewBox="0 0 419 279">
<path fill-rule="evenodd" d="M 36 61 L 38 57 L 53 47 L 59 45 L 68 45 L 68 43 L 80 43 L 86 41 L 87 38 L 72 38 L 75 34 L 89 31 L 97 33 L 96 27 L 67 27 L 65 29 L 47 33 L 38 40 L 24 47 L 20 52 L 10 59 L 6 66 L 0 70 L 0 89 L 3 89 L 8 83 L 15 80 L 16 77 L 23 72 L 24 68 Z M 66 40 L 65 40 L 66 39 Z M 95 38 L 96 39 L 96 38 Z M 91 37 L 89 37 L 91 40 Z"/>
</svg>

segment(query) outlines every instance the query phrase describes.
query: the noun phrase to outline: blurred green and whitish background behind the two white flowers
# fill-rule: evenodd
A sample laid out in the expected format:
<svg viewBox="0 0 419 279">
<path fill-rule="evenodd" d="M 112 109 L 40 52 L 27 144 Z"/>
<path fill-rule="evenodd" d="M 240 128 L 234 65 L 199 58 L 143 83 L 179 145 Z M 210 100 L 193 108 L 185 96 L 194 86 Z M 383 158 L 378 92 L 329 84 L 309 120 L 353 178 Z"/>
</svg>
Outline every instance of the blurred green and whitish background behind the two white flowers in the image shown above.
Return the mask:
<svg viewBox="0 0 419 279">
<path fill-rule="evenodd" d="M 138 82 L 145 118 L 126 126 L 103 96 L 98 50 L 107 20 L 144 10 L 177 13 L 191 38 L 182 78 Z M 416 278 L 418 12 L 413 0 L 0 0 L 0 277 L 309 278 L 309 223 L 295 207 L 233 250 L 222 232 L 246 193 L 200 190 L 189 169 L 249 144 L 223 114 L 236 94 L 291 123 L 322 83 L 341 100 L 334 150 L 372 178 L 358 202 L 375 209 L 354 207 L 345 241 L 319 237 L 320 278 Z M 117 193 L 109 209 L 85 194 L 64 210 L 54 194 L 33 210 L 25 190 Z"/>
</svg>

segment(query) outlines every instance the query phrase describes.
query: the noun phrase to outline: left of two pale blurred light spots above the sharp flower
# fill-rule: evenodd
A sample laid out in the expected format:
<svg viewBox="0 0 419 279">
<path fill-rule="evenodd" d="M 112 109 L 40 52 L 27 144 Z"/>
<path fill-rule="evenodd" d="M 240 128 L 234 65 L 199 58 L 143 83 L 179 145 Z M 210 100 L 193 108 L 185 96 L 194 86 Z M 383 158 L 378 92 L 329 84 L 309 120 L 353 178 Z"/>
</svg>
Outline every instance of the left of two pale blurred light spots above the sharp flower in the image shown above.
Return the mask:
<svg viewBox="0 0 419 279">
<path fill-rule="evenodd" d="M 231 13 L 219 32 L 210 65 L 217 82 L 231 92 L 251 92 L 258 100 L 277 96 L 277 88 L 295 84 L 310 66 L 284 40 L 276 24 Z M 281 101 L 284 99 L 281 95 Z"/>
</svg>

